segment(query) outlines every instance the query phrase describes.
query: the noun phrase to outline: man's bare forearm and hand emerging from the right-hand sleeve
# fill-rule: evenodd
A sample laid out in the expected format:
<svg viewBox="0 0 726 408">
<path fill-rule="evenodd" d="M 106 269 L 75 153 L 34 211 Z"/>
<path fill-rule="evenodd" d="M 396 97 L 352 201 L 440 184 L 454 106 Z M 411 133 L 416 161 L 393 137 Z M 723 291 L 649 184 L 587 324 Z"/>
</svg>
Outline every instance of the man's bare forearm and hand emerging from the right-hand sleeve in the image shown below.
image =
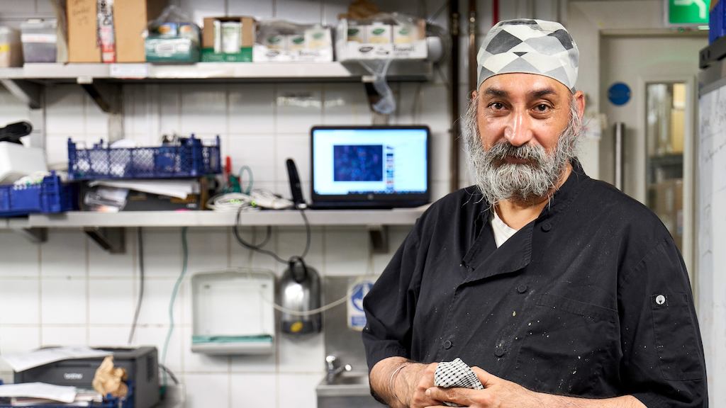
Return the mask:
<svg viewBox="0 0 726 408">
<path fill-rule="evenodd" d="M 633 396 L 608 399 L 581 399 L 530 391 L 521 385 L 472 367 L 484 390 L 432 387 L 426 395 L 438 401 L 455 402 L 471 408 L 646 408 Z M 436 407 L 447 408 L 444 405 Z"/>
</svg>

